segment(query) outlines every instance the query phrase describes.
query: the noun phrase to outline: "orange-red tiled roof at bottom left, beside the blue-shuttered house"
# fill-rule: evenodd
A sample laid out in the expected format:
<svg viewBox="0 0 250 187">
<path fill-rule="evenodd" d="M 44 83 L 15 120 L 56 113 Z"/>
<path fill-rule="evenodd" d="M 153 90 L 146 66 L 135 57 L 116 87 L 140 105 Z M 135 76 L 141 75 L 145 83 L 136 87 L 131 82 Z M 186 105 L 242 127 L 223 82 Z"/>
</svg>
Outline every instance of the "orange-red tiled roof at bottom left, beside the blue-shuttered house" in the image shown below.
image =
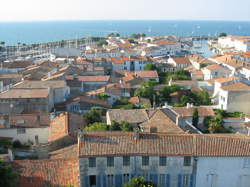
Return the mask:
<svg viewBox="0 0 250 187">
<path fill-rule="evenodd" d="M 20 187 L 80 186 L 79 165 L 72 160 L 18 160 L 12 163 Z"/>
</svg>

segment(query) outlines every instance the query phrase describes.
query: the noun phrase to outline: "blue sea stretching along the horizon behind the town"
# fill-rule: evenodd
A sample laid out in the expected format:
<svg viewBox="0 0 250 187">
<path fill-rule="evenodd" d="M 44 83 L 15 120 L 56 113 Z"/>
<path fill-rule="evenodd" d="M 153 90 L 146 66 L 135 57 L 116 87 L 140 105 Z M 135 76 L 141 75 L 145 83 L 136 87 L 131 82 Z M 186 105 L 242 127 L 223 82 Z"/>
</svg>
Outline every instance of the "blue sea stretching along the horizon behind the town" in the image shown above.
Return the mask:
<svg viewBox="0 0 250 187">
<path fill-rule="evenodd" d="M 40 21 L 0 22 L 0 41 L 6 45 L 43 43 L 119 33 L 127 37 L 133 33 L 147 36 L 250 35 L 250 21 L 152 21 L 152 20 L 96 20 L 96 21 Z"/>
</svg>

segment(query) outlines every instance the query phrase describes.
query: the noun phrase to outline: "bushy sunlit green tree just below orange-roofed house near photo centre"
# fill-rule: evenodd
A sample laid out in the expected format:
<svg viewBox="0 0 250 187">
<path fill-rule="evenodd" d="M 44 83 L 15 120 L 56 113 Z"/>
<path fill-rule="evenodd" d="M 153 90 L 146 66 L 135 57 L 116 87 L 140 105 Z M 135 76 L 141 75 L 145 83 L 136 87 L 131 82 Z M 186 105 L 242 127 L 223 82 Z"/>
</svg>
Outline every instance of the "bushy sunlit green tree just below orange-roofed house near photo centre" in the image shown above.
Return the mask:
<svg viewBox="0 0 250 187">
<path fill-rule="evenodd" d="M 137 88 L 135 90 L 135 96 L 145 97 L 150 99 L 151 103 L 153 102 L 154 95 L 156 95 L 154 91 L 154 86 L 157 84 L 155 81 L 147 81 L 141 84 L 141 88 Z"/>
</svg>

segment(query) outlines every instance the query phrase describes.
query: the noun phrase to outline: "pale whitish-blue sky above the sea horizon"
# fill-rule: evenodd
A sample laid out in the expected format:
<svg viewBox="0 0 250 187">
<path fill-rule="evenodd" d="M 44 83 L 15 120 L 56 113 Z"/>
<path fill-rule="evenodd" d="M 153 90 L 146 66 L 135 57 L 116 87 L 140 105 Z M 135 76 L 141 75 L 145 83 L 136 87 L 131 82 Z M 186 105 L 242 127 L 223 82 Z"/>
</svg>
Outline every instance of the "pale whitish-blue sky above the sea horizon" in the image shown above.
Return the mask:
<svg viewBox="0 0 250 187">
<path fill-rule="evenodd" d="M 250 21 L 250 0 L 1 0 L 0 21 Z"/>
</svg>

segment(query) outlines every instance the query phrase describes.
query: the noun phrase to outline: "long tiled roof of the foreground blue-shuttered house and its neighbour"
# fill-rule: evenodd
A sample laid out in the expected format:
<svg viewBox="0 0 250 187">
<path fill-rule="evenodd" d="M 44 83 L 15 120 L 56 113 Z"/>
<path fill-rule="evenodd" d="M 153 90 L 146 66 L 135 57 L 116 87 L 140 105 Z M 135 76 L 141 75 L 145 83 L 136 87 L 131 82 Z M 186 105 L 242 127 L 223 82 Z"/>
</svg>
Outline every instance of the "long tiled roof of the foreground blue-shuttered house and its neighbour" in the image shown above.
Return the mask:
<svg viewBox="0 0 250 187">
<path fill-rule="evenodd" d="M 80 157 L 91 156 L 250 156 L 250 137 L 238 135 L 88 132 Z"/>
</svg>

